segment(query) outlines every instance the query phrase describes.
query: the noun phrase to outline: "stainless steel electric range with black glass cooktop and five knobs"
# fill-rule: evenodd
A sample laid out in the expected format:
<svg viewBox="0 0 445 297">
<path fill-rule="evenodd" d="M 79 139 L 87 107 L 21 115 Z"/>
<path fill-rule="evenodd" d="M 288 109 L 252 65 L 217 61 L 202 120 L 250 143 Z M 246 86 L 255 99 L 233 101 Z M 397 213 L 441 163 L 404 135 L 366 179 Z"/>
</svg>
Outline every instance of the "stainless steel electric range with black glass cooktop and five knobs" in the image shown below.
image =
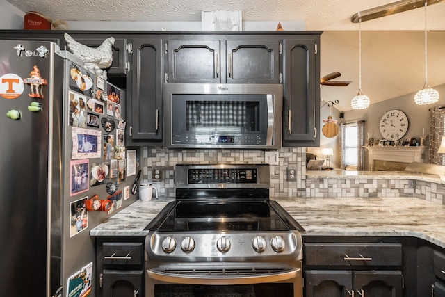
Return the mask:
<svg viewBox="0 0 445 297">
<path fill-rule="evenodd" d="M 268 165 L 179 165 L 175 188 L 145 228 L 145 296 L 302 296 L 304 230 Z"/>
</svg>

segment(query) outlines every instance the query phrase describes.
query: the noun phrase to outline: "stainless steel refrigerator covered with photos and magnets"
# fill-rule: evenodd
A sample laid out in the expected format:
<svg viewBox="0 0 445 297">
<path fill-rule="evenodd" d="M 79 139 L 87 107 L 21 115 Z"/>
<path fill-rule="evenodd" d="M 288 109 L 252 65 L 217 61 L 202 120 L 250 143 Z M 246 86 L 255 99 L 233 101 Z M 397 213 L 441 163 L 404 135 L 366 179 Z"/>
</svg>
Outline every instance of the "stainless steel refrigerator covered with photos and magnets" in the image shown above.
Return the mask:
<svg viewBox="0 0 445 297">
<path fill-rule="evenodd" d="M 52 42 L 0 40 L 0 296 L 87 296 L 70 288 L 76 276 L 94 296 L 89 231 L 136 199 L 128 188 L 137 165 L 118 134 L 124 120 L 106 112 L 113 104 L 124 114 L 124 91 L 109 86 Z M 106 97 L 114 91 L 117 102 Z M 88 105 L 80 120 L 78 99 Z M 92 198 L 111 209 L 86 211 Z"/>
</svg>

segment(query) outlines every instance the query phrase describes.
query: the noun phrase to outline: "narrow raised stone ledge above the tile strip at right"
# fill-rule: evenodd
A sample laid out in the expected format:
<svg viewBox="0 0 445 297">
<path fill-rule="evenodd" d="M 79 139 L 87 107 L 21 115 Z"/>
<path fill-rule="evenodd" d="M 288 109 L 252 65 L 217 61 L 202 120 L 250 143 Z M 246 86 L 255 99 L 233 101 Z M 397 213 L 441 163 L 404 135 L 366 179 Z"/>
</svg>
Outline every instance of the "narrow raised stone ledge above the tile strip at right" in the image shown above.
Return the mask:
<svg viewBox="0 0 445 297">
<path fill-rule="evenodd" d="M 406 171 L 306 170 L 306 179 L 413 179 L 445 184 L 440 175 Z"/>
</svg>

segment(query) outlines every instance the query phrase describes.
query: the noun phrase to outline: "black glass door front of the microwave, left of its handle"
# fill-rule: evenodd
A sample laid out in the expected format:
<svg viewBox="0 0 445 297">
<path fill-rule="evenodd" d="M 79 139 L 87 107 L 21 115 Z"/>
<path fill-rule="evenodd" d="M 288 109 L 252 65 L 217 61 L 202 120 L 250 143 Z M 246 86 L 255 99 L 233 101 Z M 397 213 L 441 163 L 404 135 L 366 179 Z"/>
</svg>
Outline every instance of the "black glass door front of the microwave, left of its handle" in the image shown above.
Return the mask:
<svg viewBox="0 0 445 297">
<path fill-rule="evenodd" d="M 267 118 L 266 95 L 173 95 L 172 143 L 266 145 Z"/>
</svg>

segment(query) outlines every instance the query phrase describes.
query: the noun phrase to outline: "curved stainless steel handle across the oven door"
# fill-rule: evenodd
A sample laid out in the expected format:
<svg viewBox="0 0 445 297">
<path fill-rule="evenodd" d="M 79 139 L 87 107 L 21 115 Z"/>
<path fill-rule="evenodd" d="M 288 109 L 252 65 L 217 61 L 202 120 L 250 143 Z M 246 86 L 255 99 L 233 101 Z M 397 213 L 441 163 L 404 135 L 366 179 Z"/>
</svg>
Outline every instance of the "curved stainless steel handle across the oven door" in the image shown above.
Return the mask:
<svg viewBox="0 0 445 297">
<path fill-rule="evenodd" d="M 147 270 L 149 278 L 161 282 L 170 282 L 173 284 L 260 284 L 264 282 L 282 282 L 291 280 L 300 274 L 301 268 L 291 269 L 282 273 L 268 273 L 262 275 L 180 275 L 172 273 L 163 273 L 160 271 Z"/>
</svg>

